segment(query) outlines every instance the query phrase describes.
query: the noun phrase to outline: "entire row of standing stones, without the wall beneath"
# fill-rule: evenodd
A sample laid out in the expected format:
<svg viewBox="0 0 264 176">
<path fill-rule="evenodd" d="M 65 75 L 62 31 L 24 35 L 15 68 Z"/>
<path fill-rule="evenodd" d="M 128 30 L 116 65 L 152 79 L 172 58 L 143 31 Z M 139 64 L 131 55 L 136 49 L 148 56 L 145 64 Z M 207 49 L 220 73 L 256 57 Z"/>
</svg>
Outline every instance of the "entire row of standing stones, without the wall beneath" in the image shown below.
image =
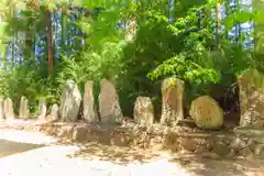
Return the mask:
<svg viewBox="0 0 264 176">
<path fill-rule="evenodd" d="M 240 88 L 240 127 L 264 127 L 264 81 L 255 69 L 249 69 L 238 77 Z M 162 84 L 162 116 L 161 124 L 175 127 L 184 120 L 185 82 L 177 78 L 167 78 Z M 119 105 L 119 96 L 114 85 L 102 79 L 100 81 L 99 108 L 95 105 L 94 81 L 85 84 L 84 98 L 73 80 L 67 80 L 62 92 L 61 106 L 53 105 L 46 116 L 46 103 L 40 101 L 38 119 L 45 121 L 76 122 L 82 113 L 87 123 L 122 124 L 124 117 Z M 81 106 L 82 103 L 82 106 Z M 81 111 L 81 112 L 80 112 Z M 223 124 L 223 110 L 210 96 L 196 98 L 189 114 L 200 129 L 220 129 Z M 142 127 L 154 123 L 154 106 L 150 97 L 138 97 L 134 102 L 134 122 Z M 21 97 L 19 118 L 28 119 L 30 111 L 28 99 Z M 0 119 L 13 119 L 13 103 L 10 98 L 0 98 Z"/>
</svg>

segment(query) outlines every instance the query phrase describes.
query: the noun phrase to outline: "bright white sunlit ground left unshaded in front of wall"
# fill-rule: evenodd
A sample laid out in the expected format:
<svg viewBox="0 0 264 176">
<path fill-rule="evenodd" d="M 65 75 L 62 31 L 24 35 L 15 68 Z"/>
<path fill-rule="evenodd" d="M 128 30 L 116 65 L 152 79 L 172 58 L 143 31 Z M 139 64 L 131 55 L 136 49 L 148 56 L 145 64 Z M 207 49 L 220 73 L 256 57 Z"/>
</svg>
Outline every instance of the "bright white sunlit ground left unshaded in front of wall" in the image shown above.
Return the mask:
<svg viewBox="0 0 264 176">
<path fill-rule="evenodd" d="M 164 158 L 156 158 L 151 163 L 130 161 L 131 163 L 125 163 L 125 165 L 116 164 L 111 160 L 102 161 L 101 156 L 105 152 L 105 155 L 109 155 L 107 152 L 118 152 L 113 148 L 101 151 L 101 156 L 99 155 L 96 158 L 95 155 L 98 154 L 99 150 L 105 150 L 106 146 L 105 148 L 97 148 L 97 153 L 94 155 L 88 152 L 91 157 L 87 155 L 86 157 L 74 157 L 81 151 L 81 147 L 77 145 L 52 145 L 57 140 L 42 133 L 1 130 L 0 140 L 4 141 L 4 143 L 1 143 L 0 153 L 10 151 L 10 155 L 0 158 L 1 176 L 138 176 L 146 174 L 153 176 L 190 176 L 184 168 L 177 167 L 176 164 Z M 36 146 L 32 147 L 31 145 Z M 8 148 L 4 148 L 4 146 Z M 20 150 L 22 146 L 25 148 Z M 92 145 L 92 147 L 96 150 L 96 145 Z M 16 152 L 12 153 L 11 151 Z M 123 152 L 121 154 L 124 154 Z M 132 156 L 132 153 L 129 151 L 128 153 Z M 141 155 L 143 157 L 143 154 Z"/>
</svg>

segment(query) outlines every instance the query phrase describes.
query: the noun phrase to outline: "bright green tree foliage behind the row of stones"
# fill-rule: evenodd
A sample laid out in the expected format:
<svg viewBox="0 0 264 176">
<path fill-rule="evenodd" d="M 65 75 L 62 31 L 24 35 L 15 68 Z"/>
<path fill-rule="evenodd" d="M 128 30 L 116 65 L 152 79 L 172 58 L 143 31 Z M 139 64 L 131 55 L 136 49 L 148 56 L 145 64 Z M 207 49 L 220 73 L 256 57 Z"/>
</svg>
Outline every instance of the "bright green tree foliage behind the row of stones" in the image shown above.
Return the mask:
<svg viewBox="0 0 264 176">
<path fill-rule="evenodd" d="M 0 29 L 2 51 L 7 51 L 7 43 L 13 41 L 18 32 L 25 33 L 29 38 L 21 48 L 26 57 L 22 64 L 14 65 L 13 57 L 11 64 L 3 59 L 0 94 L 15 99 L 15 103 L 21 96 L 28 97 L 32 111 L 38 99 L 59 102 L 66 79 L 74 79 L 81 91 L 88 79 L 95 80 L 95 96 L 99 94 L 101 78 L 112 80 L 119 90 L 122 109 L 129 116 L 138 96 L 148 96 L 155 106 L 161 105 L 161 81 L 165 77 L 185 80 L 187 106 L 199 95 L 226 96 L 216 92 L 216 86 L 232 97 L 234 92 L 229 92 L 233 90 L 235 77 L 263 63 L 260 56 L 256 59 L 254 48 L 242 46 L 243 41 L 252 36 L 241 32 L 233 43 L 224 36 L 239 23 L 252 20 L 261 23 L 261 13 L 239 7 L 220 21 L 212 12 L 218 3 L 216 0 L 178 0 L 172 7 L 165 0 L 75 0 L 73 3 L 59 0 L 56 3 L 43 1 L 38 9 L 32 10 L 24 2 L 16 9 L 7 1 L 1 2 L 6 7 L 4 25 Z M 94 11 L 76 15 L 73 21 L 78 8 Z M 21 10 L 19 15 L 14 15 L 15 10 Z M 59 56 L 54 55 L 52 73 L 47 69 L 47 42 L 44 40 L 44 44 L 40 44 L 46 50 L 44 54 L 32 52 L 35 51 L 34 42 L 46 33 L 47 12 L 63 13 L 61 23 L 56 24 L 61 33 L 54 34 L 62 42 L 54 43 L 53 51 L 59 52 Z M 224 31 L 216 34 L 218 20 Z M 135 38 L 125 41 L 131 21 L 136 22 Z M 258 38 L 262 44 L 262 37 Z M 74 45 L 69 45 L 70 42 Z"/>
</svg>

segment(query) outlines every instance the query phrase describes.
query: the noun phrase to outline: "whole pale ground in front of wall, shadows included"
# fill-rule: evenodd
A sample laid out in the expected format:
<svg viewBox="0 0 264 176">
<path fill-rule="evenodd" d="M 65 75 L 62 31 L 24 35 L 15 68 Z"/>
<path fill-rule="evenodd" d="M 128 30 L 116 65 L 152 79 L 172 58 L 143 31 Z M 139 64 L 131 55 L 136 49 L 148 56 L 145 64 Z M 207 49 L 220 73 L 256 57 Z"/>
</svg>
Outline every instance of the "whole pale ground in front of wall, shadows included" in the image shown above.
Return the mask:
<svg viewBox="0 0 264 176">
<path fill-rule="evenodd" d="M 169 156 L 169 157 L 168 157 Z M 0 130 L 0 176 L 264 176 L 263 163 L 63 144 L 38 132 Z"/>
</svg>

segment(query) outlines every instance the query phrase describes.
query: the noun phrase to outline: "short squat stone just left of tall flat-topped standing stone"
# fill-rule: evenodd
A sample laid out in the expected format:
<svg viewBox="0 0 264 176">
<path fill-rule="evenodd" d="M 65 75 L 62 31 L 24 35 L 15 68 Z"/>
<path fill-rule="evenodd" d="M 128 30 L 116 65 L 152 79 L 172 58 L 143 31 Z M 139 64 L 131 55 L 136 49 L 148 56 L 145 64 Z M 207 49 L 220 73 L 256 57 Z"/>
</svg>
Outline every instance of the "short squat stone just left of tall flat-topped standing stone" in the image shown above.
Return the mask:
<svg viewBox="0 0 264 176">
<path fill-rule="evenodd" d="M 134 121 L 141 127 L 151 127 L 154 121 L 154 107 L 150 97 L 138 97 L 134 105 Z"/>
</svg>

